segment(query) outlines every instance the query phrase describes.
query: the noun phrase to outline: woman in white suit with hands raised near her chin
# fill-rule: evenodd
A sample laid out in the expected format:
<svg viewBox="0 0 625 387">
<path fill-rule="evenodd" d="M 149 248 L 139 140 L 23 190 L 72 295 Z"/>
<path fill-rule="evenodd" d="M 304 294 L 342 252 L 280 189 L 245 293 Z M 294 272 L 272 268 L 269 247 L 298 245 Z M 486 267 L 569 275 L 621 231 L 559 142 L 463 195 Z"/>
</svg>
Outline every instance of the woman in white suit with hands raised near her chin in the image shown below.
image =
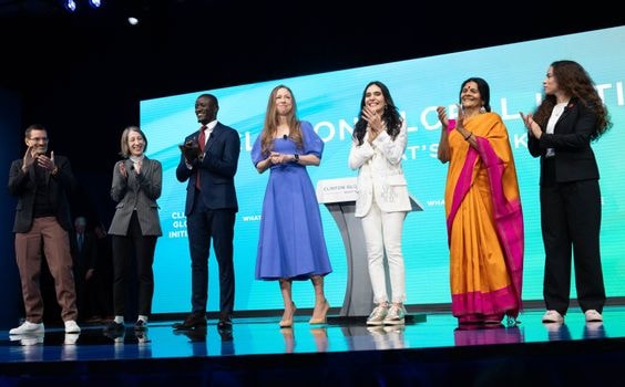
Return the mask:
<svg viewBox="0 0 625 387">
<path fill-rule="evenodd" d="M 401 160 L 407 142 L 406 122 L 399 115 L 388 87 L 379 81 L 370 82 L 362 93 L 349 153 L 349 168 L 358 169 L 355 216 L 362 221 L 376 304 L 367 325 L 404 323 L 406 270 L 401 232 L 411 207 Z M 385 252 L 390 297 L 387 293 Z"/>
</svg>

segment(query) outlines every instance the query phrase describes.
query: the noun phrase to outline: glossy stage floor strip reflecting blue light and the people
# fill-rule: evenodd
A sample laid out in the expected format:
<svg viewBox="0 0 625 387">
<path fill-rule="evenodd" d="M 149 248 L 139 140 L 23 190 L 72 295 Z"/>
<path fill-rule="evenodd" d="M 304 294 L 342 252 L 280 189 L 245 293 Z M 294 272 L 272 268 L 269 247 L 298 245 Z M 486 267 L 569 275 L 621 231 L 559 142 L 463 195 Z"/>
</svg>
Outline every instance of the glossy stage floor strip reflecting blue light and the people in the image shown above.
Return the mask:
<svg viewBox="0 0 625 387">
<path fill-rule="evenodd" d="M 625 337 L 625 306 L 606 306 L 603 323 L 586 323 L 582 312 L 572 308 L 565 324 L 542 324 L 543 313 L 525 311 L 515 326 L 467 330 L 460 328 L 449 313 L 440 312 L 424 313 L 423 318 L 414 318 L 404 326 L 381 327 L 368 327 L 365 320 L 310 325 L 308 316 L 301 315 L 296 316 L 291 328 L 279 328 L 279 317 L 271 316 L 235 317 L 229 331 L 219 331 L 216 321 L 209 321 L 205 330 L 175 332 L 174 322 L 153 321 L 145 332 L 135 332 L 129 324 L 115 337 L 105 334 L 103 324 L 83 324 L 80 335 L 65 334 L 60 326 L 47 326 L 45 334 L 38 336 L 0 332 L 0 363 L 426 351 Z"/>
</svg>

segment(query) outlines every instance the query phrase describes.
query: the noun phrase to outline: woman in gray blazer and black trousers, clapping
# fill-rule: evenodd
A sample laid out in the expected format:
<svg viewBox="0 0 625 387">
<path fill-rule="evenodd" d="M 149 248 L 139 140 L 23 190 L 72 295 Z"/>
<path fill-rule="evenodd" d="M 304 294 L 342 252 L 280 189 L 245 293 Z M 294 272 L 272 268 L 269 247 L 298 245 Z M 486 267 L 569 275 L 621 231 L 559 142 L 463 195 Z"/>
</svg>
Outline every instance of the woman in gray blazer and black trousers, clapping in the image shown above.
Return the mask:
<svg viewBox="0 0 625 387">
<path fill-rule="evenodd" d="M 147 137 L 137 126 L 127 126 L 120 142 L 122 160 L 113 167 L 111 198 L 117 205 L 109 228 L 113 250 L 113 312 L 114 320 L 106 331 L 123 332 L 126 315 L 126 291 L 136 273 L 137 316 L 134 328 L 145 331 L 152 313 L 154 295 L 154 251 L 163 234 L 158 205 L 163 188 L 161 161 L 145 156 Z M 131 264 L 136 270 L 131 270 Z M 133 316 L 134 317 L 134 316 Z"/>
</svg>

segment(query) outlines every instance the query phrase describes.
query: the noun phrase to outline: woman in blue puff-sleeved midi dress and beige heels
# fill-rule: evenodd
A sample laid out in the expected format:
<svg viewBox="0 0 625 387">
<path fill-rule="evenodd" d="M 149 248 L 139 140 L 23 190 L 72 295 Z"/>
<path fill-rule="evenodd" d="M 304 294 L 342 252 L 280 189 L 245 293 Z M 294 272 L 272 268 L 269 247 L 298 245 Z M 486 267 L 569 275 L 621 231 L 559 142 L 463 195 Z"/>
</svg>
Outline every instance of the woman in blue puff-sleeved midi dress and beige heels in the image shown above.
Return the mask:
<svg viewBox="0 0 625 387">
<path fill-rule="evenodd" d="M 269 170 L 263 201 L 256 279 L 278 281 L 285 304 L 280 327 L 293 325 L 293 281 L 310 280 L 315 308 L 310 324 L 325 324 L 330 305 L 324 278 L 332 271 L 321 213 L 306 166 L 318 166 L 324 142 L 299 121 L 290 88 L 278 85 L 269 95 L 265 124 L 252 149 L 259 174 Z"/>
</svg>

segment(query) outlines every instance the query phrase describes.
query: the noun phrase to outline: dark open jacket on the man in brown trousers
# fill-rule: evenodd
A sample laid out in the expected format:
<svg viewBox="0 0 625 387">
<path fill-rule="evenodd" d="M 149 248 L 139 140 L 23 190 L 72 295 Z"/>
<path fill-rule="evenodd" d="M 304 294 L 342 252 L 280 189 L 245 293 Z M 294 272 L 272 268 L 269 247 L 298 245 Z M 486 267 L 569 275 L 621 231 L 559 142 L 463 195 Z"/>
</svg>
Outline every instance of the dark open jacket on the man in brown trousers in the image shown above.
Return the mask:
<svg viewBox="0 0 625 387">
<path fill-rule="evenodd" d="M 54 164 L 59 168 L 57 176 L 47 174 L 48 192 L 50 203 L 55 211 L 57 220 L 61 227 L 70 231 L 72 220 L 70 216 L 69 196 L 76 187 L 76 180 L 72 174 L 70 161 L 66 157 L 54 156 Z M 32 227 L 34 197 L 37 182 L 34 177 L 34 165 L 24 174 L 22 171 L 23 159 L 11 163 L 9 171 L 9 194 L 17 197 L 16 220 L 13 232 L 28 232 Z"/>
</svg>

